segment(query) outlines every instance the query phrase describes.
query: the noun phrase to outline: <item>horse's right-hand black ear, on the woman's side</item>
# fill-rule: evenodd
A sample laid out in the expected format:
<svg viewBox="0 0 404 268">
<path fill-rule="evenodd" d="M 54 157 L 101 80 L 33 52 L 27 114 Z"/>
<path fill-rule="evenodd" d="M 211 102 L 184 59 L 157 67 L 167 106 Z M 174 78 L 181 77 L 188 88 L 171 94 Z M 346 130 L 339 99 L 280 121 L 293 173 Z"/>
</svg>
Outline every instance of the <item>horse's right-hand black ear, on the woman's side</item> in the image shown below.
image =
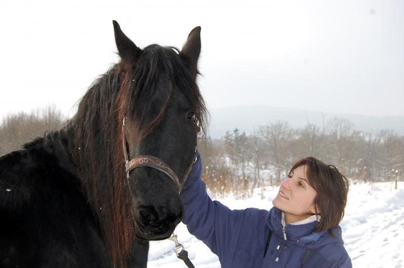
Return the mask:
<svg viewBox="0 0 404 268">
<path fill-rule="evenodd" d="M 198 73 L 198 59 L 200 54 L 200 26 L 193 28 L 189 33 L 186 43 L 182 47 L 180 56 L 189 64 L 192 74 Z"/>
</svg>

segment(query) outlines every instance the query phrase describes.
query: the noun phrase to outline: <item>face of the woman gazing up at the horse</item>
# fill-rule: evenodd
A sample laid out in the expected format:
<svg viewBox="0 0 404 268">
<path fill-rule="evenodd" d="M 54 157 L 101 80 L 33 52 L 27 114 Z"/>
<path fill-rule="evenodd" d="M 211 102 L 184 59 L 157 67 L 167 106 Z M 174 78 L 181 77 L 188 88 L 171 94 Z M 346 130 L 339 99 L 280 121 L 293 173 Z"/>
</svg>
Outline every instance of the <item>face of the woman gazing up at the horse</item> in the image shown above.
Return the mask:
<svg viewBox="0 0 404 268">
<path fill-rule="evenodd" d="M 306 167 L 304 165 L 294 169 L 272 200 L 274 206 L 285 213 L 286 224 L 304 220 L 316 213 L 314 198 L 317 192 L 309 185 Z"/>
</svg>

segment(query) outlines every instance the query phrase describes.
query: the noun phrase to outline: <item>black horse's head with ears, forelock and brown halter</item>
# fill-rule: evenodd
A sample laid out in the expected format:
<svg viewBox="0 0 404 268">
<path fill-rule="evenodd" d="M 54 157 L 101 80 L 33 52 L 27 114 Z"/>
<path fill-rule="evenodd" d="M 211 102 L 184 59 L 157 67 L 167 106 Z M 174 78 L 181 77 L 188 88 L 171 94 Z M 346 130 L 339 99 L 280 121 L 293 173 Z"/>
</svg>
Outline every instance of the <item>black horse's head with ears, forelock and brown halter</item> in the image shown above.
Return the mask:
<svg viewBox="0 0 404 268">
<path fill-rule="evenodd" d="M 140 49 L 116 21 L 114 31 L 121 58 L 118 114 L 134 233 L 162 240 L 181 221 L 179 192 L 196 155 L 198 124 L 206 116 L 196 85 L 200 27 L 189 33 L 181 50 L 157 44 Z"/>
</svg>

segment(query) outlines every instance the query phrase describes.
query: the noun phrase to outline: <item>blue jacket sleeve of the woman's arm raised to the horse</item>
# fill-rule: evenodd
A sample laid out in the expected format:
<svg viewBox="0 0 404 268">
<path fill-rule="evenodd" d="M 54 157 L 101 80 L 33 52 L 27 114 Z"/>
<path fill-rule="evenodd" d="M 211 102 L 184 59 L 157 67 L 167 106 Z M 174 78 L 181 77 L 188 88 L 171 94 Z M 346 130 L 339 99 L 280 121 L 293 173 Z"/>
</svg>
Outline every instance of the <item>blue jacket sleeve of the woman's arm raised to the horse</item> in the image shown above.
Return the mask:
<svg viewBox="0 0 404 268">
<path fill-rule="evenodd" d="M 247 229 L 255 229 L 251 228 L 250 220 L 255 219 L 254 222 L 258 222 L 257 214 L 261 210 L 231 210 L 219 201 L 212 201 L 206 192 L 205 183 L 201 180 L 201 170 L 202 163 L 198 155 L 198 160 L 181 191 L 184 204 L 182 222 L 189 233 L 202 240 L 223 260 L 247 246 L 245 241 L 251 240 Z M 259 236 L 257 229 L 255 233 Z"/>
</svg>

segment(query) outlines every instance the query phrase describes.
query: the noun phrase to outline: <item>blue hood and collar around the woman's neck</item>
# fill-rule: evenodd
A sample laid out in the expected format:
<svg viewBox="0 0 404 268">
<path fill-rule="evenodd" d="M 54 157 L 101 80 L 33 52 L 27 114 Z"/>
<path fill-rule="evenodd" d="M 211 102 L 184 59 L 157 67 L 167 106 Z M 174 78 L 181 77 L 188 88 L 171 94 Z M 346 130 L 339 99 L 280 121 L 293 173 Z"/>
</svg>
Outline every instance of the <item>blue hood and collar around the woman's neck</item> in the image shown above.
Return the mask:
<svg viewBox="0 0 404 268">
<path fill-rule="evenodd" d="M 270 230 L 272 230 L 273 234 L 276 234 L 277 236 L 281 237 L 281 239 L 284 239 L 281 220 L 282 211 L 276 207 L 271 208 L 265 217 L 267 226 Z M 286 239 L 300 247 L 310 249 L 316 249 L 333 243 L 343 244 L 341 227 L 337 226 L 331 229 L 332 233 L 334 234 L 334 236 L 332 236 L 328 231 L 315 232 L 314 229 L 316 228 L 316 224 L 317 222 L 302 225 L 286 224 Z"/>
</svg>

